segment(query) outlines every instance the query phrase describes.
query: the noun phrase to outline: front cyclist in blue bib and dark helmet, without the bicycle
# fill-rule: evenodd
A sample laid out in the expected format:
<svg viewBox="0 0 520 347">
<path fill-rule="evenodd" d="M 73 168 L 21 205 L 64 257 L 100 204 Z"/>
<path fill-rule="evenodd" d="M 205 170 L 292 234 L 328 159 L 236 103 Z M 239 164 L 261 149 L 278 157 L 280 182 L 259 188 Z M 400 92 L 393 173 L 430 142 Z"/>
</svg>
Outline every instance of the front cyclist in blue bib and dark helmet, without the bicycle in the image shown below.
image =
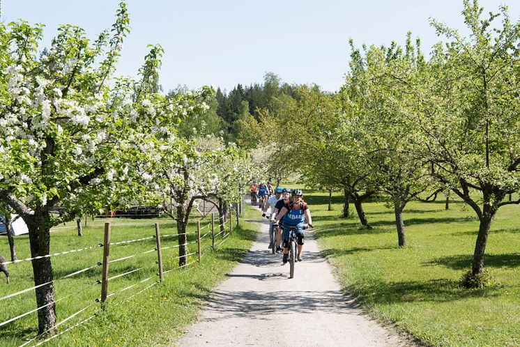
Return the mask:
<svg viewBox="0 0 520 347">
<path fill-rule="evenodd" d="M 276 222 L 280 222 L 280 219 L 283 218 L 282 228 L 284 229 L 284 258 L 282 261 L 284 264 L 287 263 L 288 258 L 287 246 L 289 244 L 289 233 L 291 231 L 291 226 L 296 226 L 298 261 L 302 261 L 301 254 L 303 250 L 303 238 L 305 238 L 305 234 L 303 233 L 303 226 L 305 226 L 305 220 L 307 220 L 307 224 L 309 224 L 309 226 L 312 228 L 311 213 L 309 206 L 307 206 L 307 203 L 302 199 L 302 190 L 295 189 L 293 190 L 292 195 L 293 202 L 285 204 L 276 217 Z"/>
</svg>

